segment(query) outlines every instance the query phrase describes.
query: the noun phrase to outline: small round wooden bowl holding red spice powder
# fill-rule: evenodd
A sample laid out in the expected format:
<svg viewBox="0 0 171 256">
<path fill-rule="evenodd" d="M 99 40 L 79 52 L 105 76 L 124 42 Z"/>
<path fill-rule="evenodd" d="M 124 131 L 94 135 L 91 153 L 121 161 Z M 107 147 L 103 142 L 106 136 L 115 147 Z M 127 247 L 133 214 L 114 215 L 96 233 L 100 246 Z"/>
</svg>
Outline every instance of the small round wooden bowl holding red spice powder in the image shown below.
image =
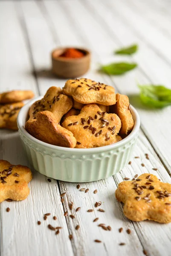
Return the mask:
<svg viewBox="0 0 171 256">
<path fill-rule="evenodd" d="M 83 52 L 84 56 L 81 58 L 59 57 L 68 48 L 57 48 L 52 51 L 52 72 L 61 78 L 80 77 L 90 67 L 90 52 L 87 49 L 73 47 Z"/>
</svg>

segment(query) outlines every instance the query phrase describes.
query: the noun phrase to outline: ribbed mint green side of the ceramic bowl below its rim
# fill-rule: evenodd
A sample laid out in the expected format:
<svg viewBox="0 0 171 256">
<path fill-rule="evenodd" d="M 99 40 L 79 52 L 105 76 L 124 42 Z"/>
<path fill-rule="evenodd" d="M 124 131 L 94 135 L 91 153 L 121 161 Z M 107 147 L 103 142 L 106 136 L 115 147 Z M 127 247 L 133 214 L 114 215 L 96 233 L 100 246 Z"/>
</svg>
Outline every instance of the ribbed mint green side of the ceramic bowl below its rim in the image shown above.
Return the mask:
<svg viewBox="0 0 171 256">
<path fill-rule="evenodd" d="M 95 154 L 71 154 L 52 150 L 32 142 L 20 132 L 23 147 L 35 170 L 57 180 L 90 182 L 101 180 L 122 170 L 129 162 L 138 133 L 118 148 Z"/>
</svg>

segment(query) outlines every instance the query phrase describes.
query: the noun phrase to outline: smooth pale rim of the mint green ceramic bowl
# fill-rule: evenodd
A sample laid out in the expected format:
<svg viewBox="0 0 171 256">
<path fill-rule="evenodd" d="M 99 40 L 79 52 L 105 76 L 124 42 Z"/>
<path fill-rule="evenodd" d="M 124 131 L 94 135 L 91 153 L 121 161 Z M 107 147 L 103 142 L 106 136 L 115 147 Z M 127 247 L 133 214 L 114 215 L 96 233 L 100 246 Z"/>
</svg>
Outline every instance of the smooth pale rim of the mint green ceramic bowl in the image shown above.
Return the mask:
<svg viewBox="0 0 171 256">
<path fill-rule="evenodd" d="M 30 100 L 29 102 L 26 103 L 26 105 L 24 105 L 21 109 L 20 112 L 18 113 L 17 116 L 17 125 L 19 130 L 31 141 L 33 141 L 34 143 L 37 143 L 41 146 L 44 146 L 46 148 L 50 148 L 52 150 L 60 150 L 60 151 L 67 151 L 67 152 L 71 152 L 71 153 L 98 153 L 101 151 L 108 151 L 108 150 L 113 150 L 115 148 L 118 148 L 126 143 L 128 143 L 130 140 L 132 140 L 135 135 L 137 134 L 137 132 L 139 131 L 139 127 L 140 127 L 140 117 L 138 112 L 136 111 L 136 109 L 130 105 L 130 111 L 133 115 L 134 118 L 134 127 L 133 130 L 130 132 L 130 134 L 125 137 L 124 139 L 122 139 L 121 141 L 117 142 L 117 143 L 113 143 L 110 145 L 106 145 L 106 146 L 102 146 L 102 147 L 97 147 L 97 148 L 66 148 L 66 147 L 61 147 L 61 146 L 56 146 L 56 145 L 52 145 L 49 143 L 45 143 L 41 140 L 36 139 L 35 137 L 33 137 L 32 135 L 30 135 L 26 129 L 25 129 L 25 122 L 26 122 L 26 117 L 28 116 L 28 111 L 29 111 L 29 107 L 37 100 L 42 99 L 43 96 L 38 96 L 35 97 L 34 99 Z"/>
</svg>

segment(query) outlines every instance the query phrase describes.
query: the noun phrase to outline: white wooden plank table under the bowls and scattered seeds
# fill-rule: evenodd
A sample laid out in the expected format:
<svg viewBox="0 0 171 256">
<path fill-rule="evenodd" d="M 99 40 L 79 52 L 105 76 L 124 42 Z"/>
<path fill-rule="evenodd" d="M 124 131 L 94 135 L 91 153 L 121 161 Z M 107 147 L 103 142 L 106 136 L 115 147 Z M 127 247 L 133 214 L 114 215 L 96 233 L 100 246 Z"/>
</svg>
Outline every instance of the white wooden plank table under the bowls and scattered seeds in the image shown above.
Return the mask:
<svg viewBox="0 0 171 256">
<path fill-rule="evenodd" d="M 114 49 L 132 43 L 139 44 L 133 57 L 113 55 Z M 1 0 L 0 91 L 30 89 L 35 95 L 43 95 L 52 85 L 62 87 L 65 80 L 56 79 L 50 72 L 50 52 L 66 45 L 89 48 L 92 67 L 85 76 L 113 85 L 120 93 L 138 93 L 137 82 L 171 88 L 170 1 Z M 99 64 L 118 60 L 136 61 L 139 67 L 125 76 L 97 72 Z M 136 173 L 150 172 L 171 183 L 171 107 L 147 111 L 134 106 L 141 117 L 141 131 L 131 165 L 106 180 L 81 184 L 89 188 L 87 193 L 76 189 L 75 183 L 50 183 L 32 170 L 29 197 L 0 204 L 1 256 L 142 256 L 143 250 L 150 256 L 171 255 L 171 224 L 129 221 L 115 198 L 118 183 Z M 18 132 L 0 130 L 0 159 L 29 166 Z M 93 193 L 95 189 L 97 194 Z M 63 192 L 67 192 L 64 204 L 60 197 Z M 97 211 L 96 201 L 102 202 L 105 212 Z M 10 212 L 6 212 L 7 207 Z M 79 212 L 75 212 L 77 207 L 81 207 Z M 87 212 L 88 209 L 95 211 Z M 64 217 L 66 211 L 75 218 Z M 52 215 L 44 221 L 46 212 Z M 57 220 L 52 219 L 54 215 Z M 93 222 L 96 217 L 99 221 Z M 40 226 L 37 221 L 41 221 Z M 110 225 L 112 230 L 103 230 L 98 227 L 100 223 Z M 55 235 L 48 224 L 63 229 Z M 75 230 L 78 224 L 80 229 Z M 120 227 L 122 233 L 118 231 Z M 130 235 L 126 233 L 128 228 Z M 95 239 L 102 243 L 95 243 Z M 125 245 L 119 246 L 121 242 Z"/>
</svg>

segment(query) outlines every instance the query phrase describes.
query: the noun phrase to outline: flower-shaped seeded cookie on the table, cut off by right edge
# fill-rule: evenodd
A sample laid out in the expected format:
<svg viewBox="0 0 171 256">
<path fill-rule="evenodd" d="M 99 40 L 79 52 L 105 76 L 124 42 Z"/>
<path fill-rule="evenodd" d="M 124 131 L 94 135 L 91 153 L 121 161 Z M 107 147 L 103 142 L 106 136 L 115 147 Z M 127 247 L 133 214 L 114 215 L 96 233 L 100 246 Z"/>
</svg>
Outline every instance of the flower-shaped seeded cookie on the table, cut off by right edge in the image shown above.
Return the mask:
<svg viewBox="0 0 171 256">
<path fill-rule="evenodd" d="M 171 222 L 171 184 L 144 173 L 135 181 L 122 181 L 116 199 L 123 202 L 124 214 L 132 221 Z"/>
</svg>

